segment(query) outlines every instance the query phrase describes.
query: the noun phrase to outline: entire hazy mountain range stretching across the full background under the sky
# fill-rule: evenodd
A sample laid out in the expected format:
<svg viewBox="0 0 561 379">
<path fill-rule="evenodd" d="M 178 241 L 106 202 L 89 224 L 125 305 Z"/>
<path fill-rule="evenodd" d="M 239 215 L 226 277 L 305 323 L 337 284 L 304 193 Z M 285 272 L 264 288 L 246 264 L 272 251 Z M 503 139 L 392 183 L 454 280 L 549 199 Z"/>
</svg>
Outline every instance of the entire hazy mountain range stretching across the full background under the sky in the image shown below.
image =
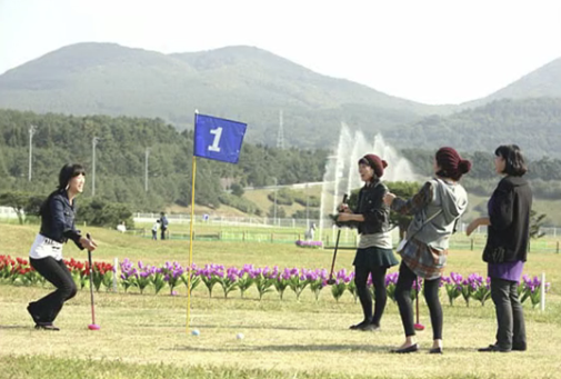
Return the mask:
<svg viewBox="0 0 561 379">
<path fill-rule="evenodd" d="M 254 143 L 277 143 L 282 110 L 285 146 L 304 148 L 334 146 L 344 121 L 367 136 L 382 132 L 398 147 L 489 150 L 515 137 L 534 156 L 559 157 L 560 98 L 561 59 L 484 99 L 428 106 L 246 46 L 163 54 L 87 42 L 0 76 L 0 108 L 150 117 L 178 129 L 192 128 L 197 109 L 248 122 Z"/>
</svg>

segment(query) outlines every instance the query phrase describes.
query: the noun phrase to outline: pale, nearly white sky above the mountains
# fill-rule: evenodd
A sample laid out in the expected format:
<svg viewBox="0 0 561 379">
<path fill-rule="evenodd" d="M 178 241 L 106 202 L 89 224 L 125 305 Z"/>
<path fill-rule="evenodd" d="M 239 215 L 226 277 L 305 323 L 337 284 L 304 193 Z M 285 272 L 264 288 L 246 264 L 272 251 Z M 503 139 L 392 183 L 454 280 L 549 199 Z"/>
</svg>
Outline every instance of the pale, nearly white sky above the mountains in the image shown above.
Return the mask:
<svg viewBox="0 0 561 379">
<path fill-rule="evenodd" d="M 561 57 L 561 1 L 0 0 L 0 73 L 87 41 L 256 46 L 400 98 L 460 103 Z"/>
</svg>

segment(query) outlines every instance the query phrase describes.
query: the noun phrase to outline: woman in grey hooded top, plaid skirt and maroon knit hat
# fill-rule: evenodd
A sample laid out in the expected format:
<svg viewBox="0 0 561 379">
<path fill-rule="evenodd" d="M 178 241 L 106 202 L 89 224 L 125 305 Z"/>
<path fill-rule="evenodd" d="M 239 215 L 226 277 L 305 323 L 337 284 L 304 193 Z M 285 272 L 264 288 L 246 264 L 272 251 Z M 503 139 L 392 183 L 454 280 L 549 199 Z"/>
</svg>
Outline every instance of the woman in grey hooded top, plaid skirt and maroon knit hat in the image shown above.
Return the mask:
<svg viewBox="0 0 561 379">
<path fill-rule="evenodd" d="M 405 342 L 391 352 L 419 350 L 411 306 L 411 288 L 418 277 L 424 279 L 424 299 L 429 306 L 432 325 L 430 353 L 442 353 L 442 306 L 439 299 L 440 278 L 444 270 L 450 236 L 455 231 L 460 216 L 468 208 L 468 193 L 460 179 L 471 169 L 452 148 L 441 148 L 434 157 L 434 178 L 409 200 L 388 193 L 384 201 L 401 215 L 412 215 L 407 231 L 408 242 L 399 251 L 401 265 L 395 286 L 395 300 L 405 332 Z"/>
</svg>

